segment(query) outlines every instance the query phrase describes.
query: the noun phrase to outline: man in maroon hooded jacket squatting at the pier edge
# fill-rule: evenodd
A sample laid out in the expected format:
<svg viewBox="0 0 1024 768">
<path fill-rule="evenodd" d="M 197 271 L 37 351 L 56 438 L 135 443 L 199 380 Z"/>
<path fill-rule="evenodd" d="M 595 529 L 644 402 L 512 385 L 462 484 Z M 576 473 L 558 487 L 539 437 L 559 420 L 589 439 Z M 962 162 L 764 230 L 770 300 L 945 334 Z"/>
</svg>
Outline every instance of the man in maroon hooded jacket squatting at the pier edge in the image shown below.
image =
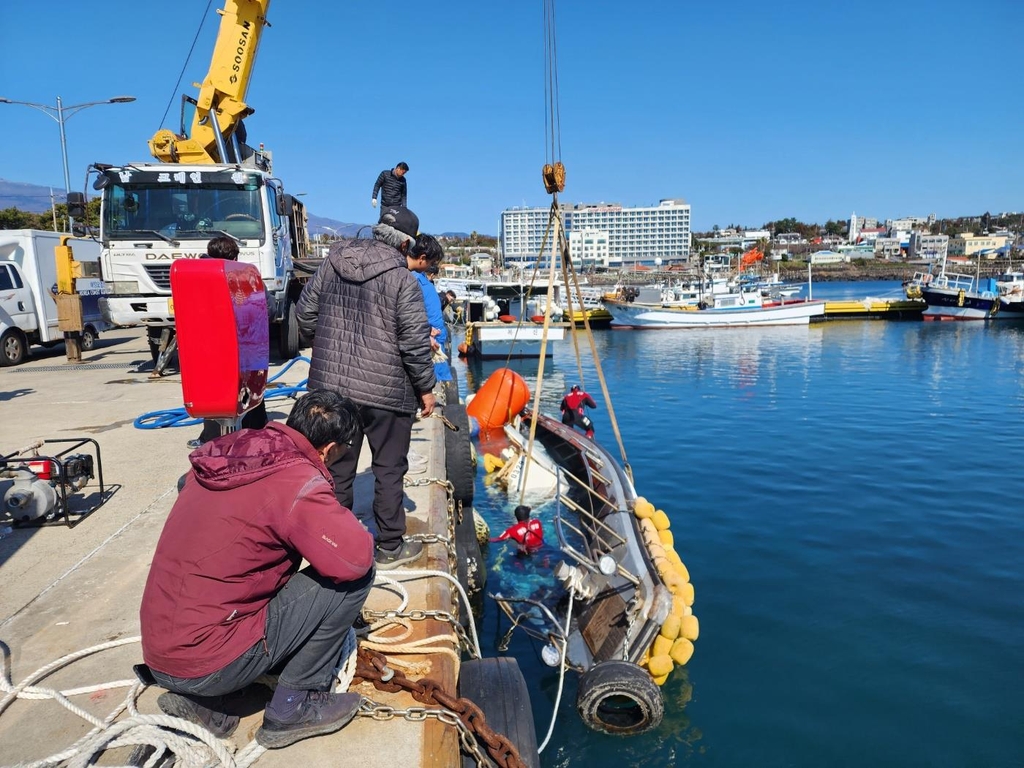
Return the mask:
<svg viewBox="0 0 1024 768">
<path fill-rule="evenodd" d="M 330 689 L 373 586 L 374 540 L 338 504 L 327 467 L 349 450 L 356 418 L 351 400 L 313 391 L 286 425 L 189 456 L 140 610 L 165 713 L 226 737 L 239 718 L 224 697 L 269 672 L 280 677 L 256 733 L 263 746 L 332 733 L 355 715 L 361 697 Z"/>
</svg>

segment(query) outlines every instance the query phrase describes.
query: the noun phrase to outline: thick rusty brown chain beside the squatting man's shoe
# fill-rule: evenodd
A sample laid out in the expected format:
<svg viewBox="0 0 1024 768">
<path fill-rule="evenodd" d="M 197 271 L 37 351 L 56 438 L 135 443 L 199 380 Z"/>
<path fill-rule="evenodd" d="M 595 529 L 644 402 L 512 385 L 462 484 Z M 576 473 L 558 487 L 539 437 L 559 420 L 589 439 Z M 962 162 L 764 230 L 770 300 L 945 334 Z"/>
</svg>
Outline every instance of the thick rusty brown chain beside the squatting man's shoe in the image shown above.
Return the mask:
<svg viewBox="0 0 1024 768">
<path fill-rule="evenodd" d="M 355 665 L 353 682 L 370 682 L 378 690 L 389 693 L 408 691 L 413 698 L 428 707 L 442 707 L 462 721 L 473 734 L 474 740 L 483 743 L 487 754 L 500 768 L 526 768 L 515 745 L 504 735 L 487 725 L 486 718 L 473 701 L 453 696 L 433 680 L 410 680 L 398 670 L 387 666 L 387 657 L 370 648 L 360 647 Z M 474 754 L 473 750 L 469 751 Z"/>
</svg>

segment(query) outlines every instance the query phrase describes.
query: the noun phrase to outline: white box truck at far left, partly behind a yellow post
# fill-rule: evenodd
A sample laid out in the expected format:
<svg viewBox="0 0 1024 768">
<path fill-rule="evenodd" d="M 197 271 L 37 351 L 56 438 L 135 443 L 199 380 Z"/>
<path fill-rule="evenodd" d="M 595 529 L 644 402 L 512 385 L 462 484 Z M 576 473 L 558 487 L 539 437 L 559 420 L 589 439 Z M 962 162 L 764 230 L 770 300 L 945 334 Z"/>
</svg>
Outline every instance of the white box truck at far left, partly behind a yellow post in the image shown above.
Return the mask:
<svg viewBox="0 0 1024 768">
<path fill-rule="evenodd" d="M 57 267 L 54 248 L 60 234 L 37 229 L 0 230 L 0 366 L 16 366 L 32 344 L 51 347 L 63 341 L 58 328 L 54 299 Z M 75 260 L 96 264 L 99 244 L 94 240 L 69 241 Z M 98 274 L 98 267 L 92 271 Z M 76 291 L 82 296 L 82 349 L 91 349 L 106 328 L 98 307 L 103 283 L 98 278 L 79 278 Z"/>
</svg>

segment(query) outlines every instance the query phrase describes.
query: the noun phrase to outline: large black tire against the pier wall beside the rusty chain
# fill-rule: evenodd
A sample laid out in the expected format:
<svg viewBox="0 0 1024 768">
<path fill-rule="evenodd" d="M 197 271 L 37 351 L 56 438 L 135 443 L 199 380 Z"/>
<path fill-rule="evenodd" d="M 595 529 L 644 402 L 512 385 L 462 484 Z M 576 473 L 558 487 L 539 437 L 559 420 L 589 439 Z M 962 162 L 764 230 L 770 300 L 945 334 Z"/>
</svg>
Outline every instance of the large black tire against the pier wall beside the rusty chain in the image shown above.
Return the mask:
<svg viewBox="0 0 1024 768">
<path fill-rule="evenodd" d="M 529 691 L 512 656 L 463 662 L 459 672 L 459 695 L 480 708 L 487 726 L 512 742 L 523 765 L 540 768 Z M 464 755 L 462 765 L 469 768 L 475 766 L 476 761 Z"/>
</svg>

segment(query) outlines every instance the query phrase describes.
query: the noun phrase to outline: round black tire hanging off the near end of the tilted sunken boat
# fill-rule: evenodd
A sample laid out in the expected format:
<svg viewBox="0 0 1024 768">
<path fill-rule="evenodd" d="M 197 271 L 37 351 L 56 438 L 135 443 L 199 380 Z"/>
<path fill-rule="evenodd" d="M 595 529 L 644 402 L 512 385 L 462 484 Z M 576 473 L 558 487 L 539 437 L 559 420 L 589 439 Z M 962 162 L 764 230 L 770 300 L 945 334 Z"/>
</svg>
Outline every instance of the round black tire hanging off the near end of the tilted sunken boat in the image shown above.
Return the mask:
<svg viewBox="0 0 1024 768">
<path fill-rule="evenodd" d="M 631 736 L 657 727 L 665 700 L 654 679 L 635 664 L 601 662 L 580 677 L 577 711 L 589 727 Z"/>
</svg>

